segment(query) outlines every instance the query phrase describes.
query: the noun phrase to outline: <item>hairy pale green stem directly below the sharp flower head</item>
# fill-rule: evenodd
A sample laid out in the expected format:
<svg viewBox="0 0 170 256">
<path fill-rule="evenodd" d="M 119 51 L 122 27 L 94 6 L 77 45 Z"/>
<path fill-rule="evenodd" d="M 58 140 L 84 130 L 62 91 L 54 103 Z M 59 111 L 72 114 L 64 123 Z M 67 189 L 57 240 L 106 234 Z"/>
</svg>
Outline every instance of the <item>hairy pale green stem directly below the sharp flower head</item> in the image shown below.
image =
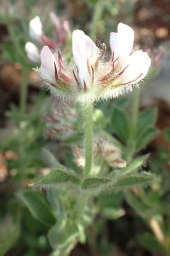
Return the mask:
<svg viewBox="0 0 170 256">
<path fill-rule="evenodd" d="M 92 165 L 93 103 L 84 107 L 85 175 L 90 175 Z"/>
</svg>

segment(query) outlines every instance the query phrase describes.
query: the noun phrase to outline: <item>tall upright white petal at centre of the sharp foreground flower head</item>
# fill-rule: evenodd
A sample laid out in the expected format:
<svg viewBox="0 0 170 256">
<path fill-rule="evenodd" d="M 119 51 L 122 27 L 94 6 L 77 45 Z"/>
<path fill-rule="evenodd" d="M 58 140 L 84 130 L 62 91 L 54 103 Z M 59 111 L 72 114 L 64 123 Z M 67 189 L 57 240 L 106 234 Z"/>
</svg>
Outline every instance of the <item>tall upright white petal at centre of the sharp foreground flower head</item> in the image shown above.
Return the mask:
<svg viewBox="0 0 170 256">
<path fill-rule="evenodd" d="M 78 67 L 79 78 L 82 86 L 86 82 L 87 87 L 91 85 L 91 77 L 87 68 L 86 36 L 82 30 L 73 31 L 73 56 Z"/>
</svg>

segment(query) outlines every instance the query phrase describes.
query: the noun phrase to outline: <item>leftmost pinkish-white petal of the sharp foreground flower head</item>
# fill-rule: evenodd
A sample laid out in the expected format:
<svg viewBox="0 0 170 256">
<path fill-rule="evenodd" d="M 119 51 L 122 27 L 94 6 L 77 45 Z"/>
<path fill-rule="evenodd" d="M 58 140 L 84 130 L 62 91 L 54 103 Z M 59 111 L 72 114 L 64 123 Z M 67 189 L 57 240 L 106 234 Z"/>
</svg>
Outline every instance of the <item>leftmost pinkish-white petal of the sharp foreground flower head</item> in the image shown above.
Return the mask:
<svg viewBox="0 0 170 256">
<path fill-rule="evenodd" d="M 49 82 L 55 83 L 54 62 L 56 59 L 48 46 L 44 46 L 40 53 L 41 56 L 41 76 Z"/>
</svg>

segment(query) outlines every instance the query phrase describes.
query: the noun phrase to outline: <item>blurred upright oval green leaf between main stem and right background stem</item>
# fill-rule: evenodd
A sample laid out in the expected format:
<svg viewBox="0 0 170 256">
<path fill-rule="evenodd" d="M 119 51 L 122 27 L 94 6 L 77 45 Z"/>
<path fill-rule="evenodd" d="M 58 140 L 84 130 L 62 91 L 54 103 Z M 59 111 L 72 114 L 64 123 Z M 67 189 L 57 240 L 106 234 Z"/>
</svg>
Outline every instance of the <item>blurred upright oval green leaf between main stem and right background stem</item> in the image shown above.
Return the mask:
<svg viewBox="0 0 170 256">
<path fill-rule="evenodd" d="M 129 138 L 129 119 L 122 109 L 114 108 L 111 118 L 113 132 L 122 142 L 127 142 Z"/>
</svg>

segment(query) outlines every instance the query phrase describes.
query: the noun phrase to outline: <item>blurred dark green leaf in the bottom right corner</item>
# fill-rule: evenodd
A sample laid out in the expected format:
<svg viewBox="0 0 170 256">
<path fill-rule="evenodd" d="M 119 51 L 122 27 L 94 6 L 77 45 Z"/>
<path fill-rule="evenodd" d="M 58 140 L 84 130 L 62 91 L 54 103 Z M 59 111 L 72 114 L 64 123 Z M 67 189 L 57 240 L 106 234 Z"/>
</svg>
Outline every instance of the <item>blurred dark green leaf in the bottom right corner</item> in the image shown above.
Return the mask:
<svg viewBox="0 0 170 256">
<path fill-rule="evenodd" d="M 156 240 L 156 238 L 149 233 L 145 233 L 143 236 L 138 237 L 138 240 L 145 249 L 151 251 L 152 253 L 154 251 L 163 250 L 158 240 Z"/>
</svg>

